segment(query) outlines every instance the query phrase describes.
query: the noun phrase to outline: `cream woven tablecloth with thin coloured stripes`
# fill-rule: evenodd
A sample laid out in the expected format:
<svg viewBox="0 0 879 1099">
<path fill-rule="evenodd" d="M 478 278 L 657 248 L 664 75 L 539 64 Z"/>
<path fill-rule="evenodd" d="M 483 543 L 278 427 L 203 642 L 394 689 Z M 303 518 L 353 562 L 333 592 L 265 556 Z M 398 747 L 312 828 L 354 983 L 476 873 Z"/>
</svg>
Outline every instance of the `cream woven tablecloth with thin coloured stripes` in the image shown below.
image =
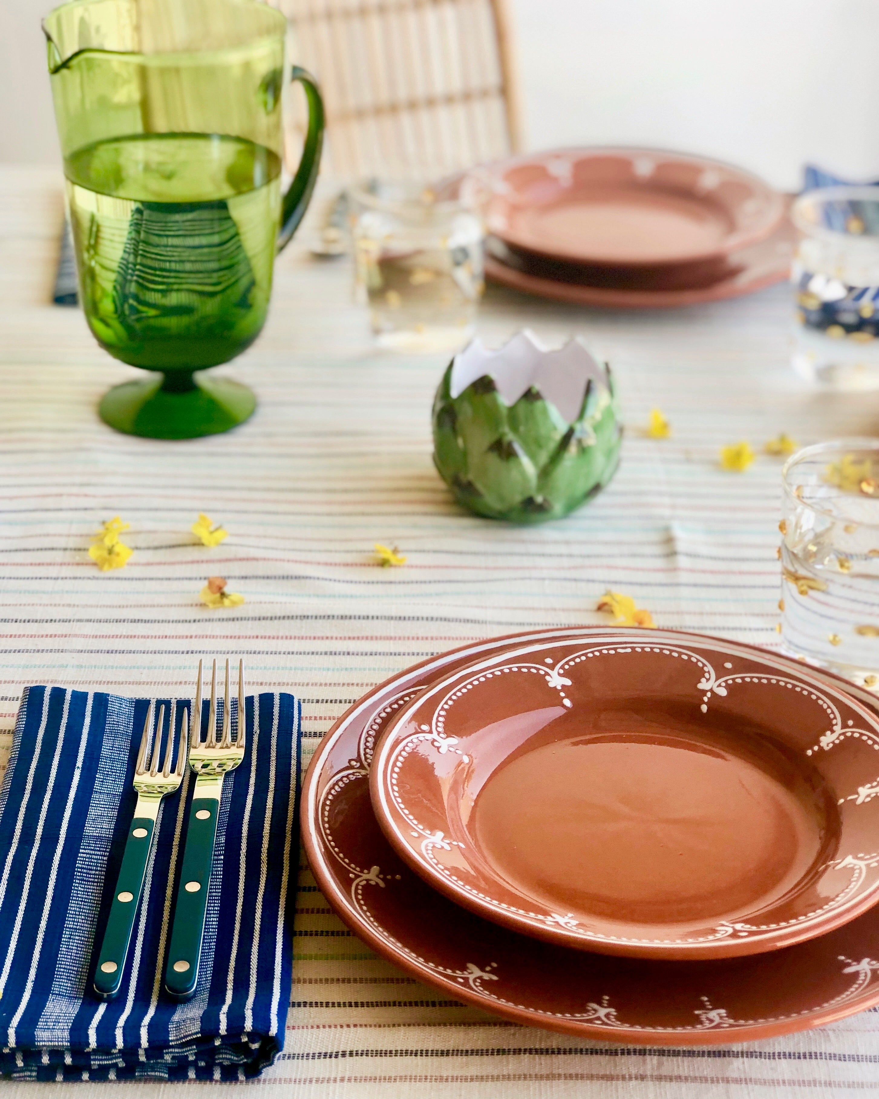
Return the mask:
<svg viewBox="0 0 879 1099">
<path fill-rule="evenodd" d="M 308 762 L 332 721 L 393 671 L 492 634 L 605 621 L 594 607 L 608 588 L 660 626 L 776 647 L 779 459 L 724 473 L 717 448 L 747 439 L 759 449 L 781 431 L 802 443 L 879 433 L 879 397 L 806 391 L 792 375 L 785 287 L 658 313 L 490 288 L 488 342 L 528 325 L 554 342 L 581 334 L 607 355 L 626 437 L 610 488 L 569 519 L 530 529 L 479 520 L 452 502 L 431 462 L 444 357 L 376 352 L 345 262 L 313 260 L 294 242 L 278 260 L 263 336 L 220 368 L 257 391 L 253 420 L 198 442 L 119 435 L 96 404 L 138 371 L 99 349 L 78 310 L 48 304 L 62 219 L 55 174 L 0 170 L 0 728 L 11 729 L 29 682 L 185 696 L 198 656 L 241 654 L 249 690 L 302 699 Z M 672 439 L 645 436 L 653 407 Z M 227 528 L 218 548 L 189 533 L 199 511 Z M 101 574 L 87 550 L 116 514 L 135 553 Z M 407 565 L 378 568 L 376 542 L 398 545 Z M 209 575 L 225 576 L 245 604 L 203 608 Z M 877 1011 L 747 1045 L 578 1041 L 416 984 L 344 928 L 304 865 L 300 882 L 285 1053 L 256 1084 L 196 1087 L 302 1099 L 879 1091 Z"/>
</svg>

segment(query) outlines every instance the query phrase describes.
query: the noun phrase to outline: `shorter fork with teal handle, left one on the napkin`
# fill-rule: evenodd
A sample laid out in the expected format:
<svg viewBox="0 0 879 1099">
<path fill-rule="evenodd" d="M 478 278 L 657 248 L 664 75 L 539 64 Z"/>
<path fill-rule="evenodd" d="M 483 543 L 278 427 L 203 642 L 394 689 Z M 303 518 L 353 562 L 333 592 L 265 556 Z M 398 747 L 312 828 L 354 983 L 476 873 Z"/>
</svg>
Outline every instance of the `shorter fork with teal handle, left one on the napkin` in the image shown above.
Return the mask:
<svg viewBox="0 0 879 1099">
<path fill-rule="evenodd" d="M 110 915 L 103 933 L 101 952 L 98 955 L 98 964 L 94 969 L 94 991 L 104 1000 L 112 1000 L 119 992 L 120 985 L 122 984 L 122 974 L 125 969 L 125 957 L 127 956 L 129 944 L 131 943 L 134 917 L 137 913 L 146 864 L 153 847 L 153 835 L 156 828 L 159 803 L 164 797 L 168 793 L 174 793 L 178 789 L 186 768 L 187 741 L 189 740 L 186 710 L 183 710 L 182 723 L 180 725 L 177 761 L 174 769 L 171 769 L 177 703 L 173 703 L 170 709 L 168 741 L 165 748 L 165 759 L 162 764 L 159 764 L 159 759 L 162 754 L 162 730 L 165 724 L 165 707 L 162 706 L 158 711 L 158 721 L 153 734 L 151 751 L 149 734 L 153 731 L 154 708 L 155 703 L 151 701 L 149 709 L 146 711 L 146 718 L 144 719 L 141 748 L 137 753 L 137 763 L 134 768 L 133 785 L 137 791 L 137 804 L 135 806 L 134 818 L 129 830 L 129 839 L 125 842 L 125 853 L 122 856 L 122 865 L 119 868 L 113 903 L 110 907 Z"/>
</svg>

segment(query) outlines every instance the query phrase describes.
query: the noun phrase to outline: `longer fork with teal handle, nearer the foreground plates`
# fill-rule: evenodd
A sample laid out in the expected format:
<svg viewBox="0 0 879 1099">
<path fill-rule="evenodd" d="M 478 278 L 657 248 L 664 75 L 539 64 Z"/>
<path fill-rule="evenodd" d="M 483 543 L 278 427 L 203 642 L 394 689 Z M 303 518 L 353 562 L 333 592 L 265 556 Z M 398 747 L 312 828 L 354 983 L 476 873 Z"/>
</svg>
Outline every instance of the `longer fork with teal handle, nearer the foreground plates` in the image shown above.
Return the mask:
<svg viewBox="0 0 879 1099">
<path fill-rule="evenodd" d="M 188 1000 L 196 991 L 201 959 L 201 940 L 204 932 L 204 911 L 208 903 L 208 885 L 213 865 L 213 845 L 216 839 L 216 817 L 223 796 L 223 778 L 244 758 L 246 720 L 244 710 L 244 660 L 238 660 L 238 713 L 235 740 L 232 740 L 232 708 L 229 691 L 229 660 L 226 660 L 225 695 L 223 700 L 223 728 L 216 729 L 216 660 L 211 674 L 211 703 L 208 708 L 205 739 L 201 737 L 201 677 L 196 688 L 192 711 L 192 735 L 189 744 L 189 765 L 196 773 L 196 788 L 187 824 L 186 847 L 180 869 L 180 884 L 174 912 L 174 926 L 165 965 L 165 990 L 176 1000 Z"/>
</svg>

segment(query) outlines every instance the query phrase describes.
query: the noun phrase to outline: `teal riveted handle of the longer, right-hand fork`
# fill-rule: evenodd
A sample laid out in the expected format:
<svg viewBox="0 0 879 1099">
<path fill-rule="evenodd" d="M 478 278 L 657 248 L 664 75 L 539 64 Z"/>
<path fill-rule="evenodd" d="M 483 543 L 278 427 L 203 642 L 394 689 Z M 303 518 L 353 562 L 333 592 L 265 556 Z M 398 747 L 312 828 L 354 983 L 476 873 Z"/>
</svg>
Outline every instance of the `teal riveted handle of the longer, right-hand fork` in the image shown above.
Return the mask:
<svg viewBox="0 0 879 1099">
<path fill-rule="evenodd" d="M 220 802 L 214 798 L 193 798 L 189 810 L 171 945 L 165 965 L 165 990 L 175 1000 L 188 1000 L 196 991 L 199 979 L 204 910 L 208 906 L 219 809 Z"/>
</svg>

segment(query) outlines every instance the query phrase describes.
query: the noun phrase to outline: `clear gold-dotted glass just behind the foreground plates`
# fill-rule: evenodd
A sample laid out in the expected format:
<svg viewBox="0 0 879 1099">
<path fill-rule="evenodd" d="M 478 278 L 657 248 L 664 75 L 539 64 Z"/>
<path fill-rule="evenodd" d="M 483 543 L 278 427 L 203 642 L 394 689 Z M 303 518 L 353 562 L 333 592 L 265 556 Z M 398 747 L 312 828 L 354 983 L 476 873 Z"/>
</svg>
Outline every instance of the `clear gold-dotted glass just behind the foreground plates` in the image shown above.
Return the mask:
<svg viewBox="0 0 879 1099">
<path fill-rule="evenodd" d="M 782 647 L 879 689 L 879 440 L 806 446 L 781 477 Z"/>
</svg>

